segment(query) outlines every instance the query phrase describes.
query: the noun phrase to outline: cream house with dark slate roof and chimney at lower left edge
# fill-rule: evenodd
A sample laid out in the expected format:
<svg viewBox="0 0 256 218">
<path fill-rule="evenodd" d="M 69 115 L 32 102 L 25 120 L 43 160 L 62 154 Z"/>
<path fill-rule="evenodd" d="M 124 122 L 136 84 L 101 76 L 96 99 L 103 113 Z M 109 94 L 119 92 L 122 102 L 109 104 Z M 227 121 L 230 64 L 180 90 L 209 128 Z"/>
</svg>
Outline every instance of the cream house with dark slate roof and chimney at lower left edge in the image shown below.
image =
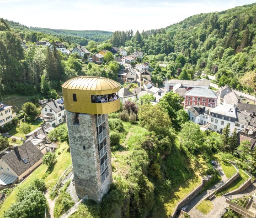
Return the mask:
<svg viewBox="0 0 256 218">
<path fill-rule="evenodd" d="M 0 185 L 22 180 L 42 163 L 43 153 L 32 142 L 0 153 Z"/>
</svg>

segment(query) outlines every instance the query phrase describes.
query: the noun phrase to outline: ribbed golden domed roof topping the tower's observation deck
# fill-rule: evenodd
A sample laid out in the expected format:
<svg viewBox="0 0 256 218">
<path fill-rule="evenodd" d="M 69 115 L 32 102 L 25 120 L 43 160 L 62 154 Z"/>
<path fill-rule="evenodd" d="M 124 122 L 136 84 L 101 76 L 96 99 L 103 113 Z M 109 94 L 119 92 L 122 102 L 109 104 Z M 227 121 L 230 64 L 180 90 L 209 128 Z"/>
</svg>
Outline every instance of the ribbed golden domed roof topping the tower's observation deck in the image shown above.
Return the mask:
<svg viewBox="0 0 256 218">
<path fill-rule="evenodd" d="M 96 76 L 78 76 L 63 83 L 62 88 L 87 91 L 107 91 L 119 88 L 120 85 L 112 79 Z"/>
</svg>

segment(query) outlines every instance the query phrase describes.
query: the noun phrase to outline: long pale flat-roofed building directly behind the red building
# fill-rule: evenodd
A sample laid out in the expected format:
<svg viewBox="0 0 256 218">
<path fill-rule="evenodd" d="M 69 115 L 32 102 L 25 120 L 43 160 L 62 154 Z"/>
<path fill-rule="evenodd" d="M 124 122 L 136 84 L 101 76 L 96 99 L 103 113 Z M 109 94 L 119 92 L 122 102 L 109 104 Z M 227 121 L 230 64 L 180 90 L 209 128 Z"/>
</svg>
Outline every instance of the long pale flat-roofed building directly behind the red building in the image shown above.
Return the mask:
<svg viewBox="0 0 256 218">
<path fill-rule="evenodd" d="M 203 88 L 209 89 L 210 88 L 210 81 L 208 79 L 203 78 L 202 80 L 168 80 L 165 81 L 165 89 L 167 91 L 173 90 L 173 87 L 177 84 L 181 84 L 185 89 L 190 90 L 192 88 Z"/>
</svg>

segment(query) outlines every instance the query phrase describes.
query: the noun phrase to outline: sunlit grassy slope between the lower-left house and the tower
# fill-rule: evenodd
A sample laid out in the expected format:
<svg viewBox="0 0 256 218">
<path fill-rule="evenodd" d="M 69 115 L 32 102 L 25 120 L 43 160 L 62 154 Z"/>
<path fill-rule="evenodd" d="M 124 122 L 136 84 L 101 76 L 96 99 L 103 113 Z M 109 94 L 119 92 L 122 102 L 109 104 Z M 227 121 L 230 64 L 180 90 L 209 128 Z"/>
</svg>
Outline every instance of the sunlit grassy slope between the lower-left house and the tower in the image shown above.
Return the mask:
<svg viewBox="0 0 256 218">
<path fill-rule="evenodd" d="M 58 155 L 58 152 L 61 152 L 61 154 Z M 71 164 L 71 156 L 68 152 L 68 145 L 66 143 L 60 144 L 59 148 L 56 150 L 56 155 L 58 158 L 58 162 L 55 164 L 53 171 L 50 172 L 45 178 L 47 188 L 51 188 L 52 186 L 54 186 L 64 170 Z M 23 183 L 17 185 L 13 189 L 12 193 L 7 198 L 5 198 L 5 201 L 0 208 L 0 218 L 2 218 L 4 211 L 7 210 L 11 206 L 11 204 L 15 202 L 16 195 L 19 189 L 26 188 L 34 181 L 35 178 L 43 178 L 44 174 L 47 173 L 47 170 L 48 167 L 41 164 L 27 177 L 27 179 Z"/>
</svg>

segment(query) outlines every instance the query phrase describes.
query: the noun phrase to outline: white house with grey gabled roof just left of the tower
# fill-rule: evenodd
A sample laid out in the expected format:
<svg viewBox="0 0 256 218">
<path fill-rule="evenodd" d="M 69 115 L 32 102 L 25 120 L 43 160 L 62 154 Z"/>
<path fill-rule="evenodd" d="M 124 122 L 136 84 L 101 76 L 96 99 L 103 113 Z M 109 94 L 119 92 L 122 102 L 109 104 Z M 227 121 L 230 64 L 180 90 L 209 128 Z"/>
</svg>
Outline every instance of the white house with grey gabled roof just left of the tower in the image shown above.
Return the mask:
<svg viewBox="0 0 256 218">
<path fill-rule="evenodd" d="M 66 112 L 64 109 L 63 98 L 61 97 L 57 100 L 50 99 L 50 101 L 41 109 L 41 114 L 44 121 L 50 123 L 52 127 L 56 127 L 65 122 Z"/>
</svg>

